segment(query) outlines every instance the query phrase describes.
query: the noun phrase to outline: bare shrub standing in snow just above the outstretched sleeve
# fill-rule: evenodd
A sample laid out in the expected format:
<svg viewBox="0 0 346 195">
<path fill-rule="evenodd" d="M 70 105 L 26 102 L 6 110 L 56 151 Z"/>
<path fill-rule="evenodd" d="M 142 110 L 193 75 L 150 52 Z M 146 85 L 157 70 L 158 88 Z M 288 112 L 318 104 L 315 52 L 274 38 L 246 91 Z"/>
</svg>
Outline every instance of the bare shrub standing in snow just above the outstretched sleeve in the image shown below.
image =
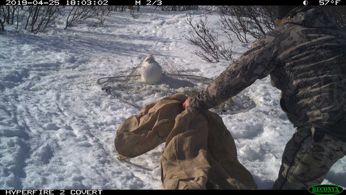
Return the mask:
<svg viewBox="0 0 346 195">
<path fill-rule="evenodd" d="M 183 37 L 202 49 L 202 51 L 196 50 L 192 53 L 209 62 L 219 62 L 220 59 L 234 61 L 233 40 L 230 39 L 230 36 L 227 38 L 231 42 L 231 46 L 227 46 L 225 42 L 219 42 L 219 34 L 216 36 L 211 34 L 212 30 L 208 28 L 207 16 L 204 20 L 200 17 L 195 25 L 192 24 L 192 19 L 193 16 L 187 16 L 184 23 L 190 25 L 194 33 L 189 32 L 189 36 L 184 35 Z"/>
</svg>

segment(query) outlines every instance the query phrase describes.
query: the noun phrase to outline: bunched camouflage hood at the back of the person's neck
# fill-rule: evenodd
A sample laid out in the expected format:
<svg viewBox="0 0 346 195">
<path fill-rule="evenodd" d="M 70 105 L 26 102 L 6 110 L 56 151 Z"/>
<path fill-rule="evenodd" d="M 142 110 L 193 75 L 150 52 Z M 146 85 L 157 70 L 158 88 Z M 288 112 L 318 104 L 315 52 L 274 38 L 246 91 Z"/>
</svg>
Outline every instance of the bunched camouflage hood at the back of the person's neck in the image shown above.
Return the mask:
<svg viewBox="0 0 346 195">
<path fill-rule="evenodd" d="M 283 23 L 299 24 L 311 28 L 335 26 L 337 24 L 327 12 L 313 6 L 301 6 L 293 9 Z"/>
</svg>

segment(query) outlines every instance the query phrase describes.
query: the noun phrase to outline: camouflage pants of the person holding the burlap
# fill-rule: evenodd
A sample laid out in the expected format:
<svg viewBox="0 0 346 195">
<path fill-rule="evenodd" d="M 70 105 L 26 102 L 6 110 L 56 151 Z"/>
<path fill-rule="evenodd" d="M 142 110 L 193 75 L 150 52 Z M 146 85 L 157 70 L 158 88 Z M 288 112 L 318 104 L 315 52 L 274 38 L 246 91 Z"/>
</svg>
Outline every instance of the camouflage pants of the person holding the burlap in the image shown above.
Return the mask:
<svg viewBox="0 0 346 195">
<path fill-rule="evenodd" d="M 307 189 L 321 184 L 331 166 L 345 155 L 346 142 L 310 126 L 300 127 L 285 146 L 272 189 Z"/>
</svg>

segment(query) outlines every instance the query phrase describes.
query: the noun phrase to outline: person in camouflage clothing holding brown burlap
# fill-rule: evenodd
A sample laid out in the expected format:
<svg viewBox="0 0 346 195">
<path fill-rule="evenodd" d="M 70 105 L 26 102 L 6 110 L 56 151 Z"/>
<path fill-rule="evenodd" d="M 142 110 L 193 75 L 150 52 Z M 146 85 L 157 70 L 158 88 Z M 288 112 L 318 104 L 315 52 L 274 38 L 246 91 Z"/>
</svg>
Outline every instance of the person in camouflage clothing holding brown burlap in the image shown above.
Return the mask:
<svg viewBox="0 0 346 195">
<path fill-rule="evenodd" d="M 213 108 L 270 75 L 281 90 L 282 110 L 297 127 L 273 189 L 307 189 L 321 184 L 346 155 L 346 32 L 316 7 L 276 10 L 279 25 L 183 108 Z"/>
</svg>

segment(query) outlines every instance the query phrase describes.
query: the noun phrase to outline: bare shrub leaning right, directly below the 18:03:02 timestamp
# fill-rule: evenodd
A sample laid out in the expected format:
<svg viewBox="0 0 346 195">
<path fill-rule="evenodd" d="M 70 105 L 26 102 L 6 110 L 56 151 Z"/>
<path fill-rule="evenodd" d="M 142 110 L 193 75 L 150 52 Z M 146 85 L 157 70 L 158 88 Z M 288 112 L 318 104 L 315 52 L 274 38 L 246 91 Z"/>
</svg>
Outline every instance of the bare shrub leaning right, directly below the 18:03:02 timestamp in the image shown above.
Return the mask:
<svg viewBox="0 0 346 195">
<path fill-rule="evenodd" d="M 69 6 L 64 30 L 66 30 L 67 27 L 83 23 L 84 20 L 94 16 L 97 16 L 97 11 L 95 11 L 94 6 Z"/>
</svg>

